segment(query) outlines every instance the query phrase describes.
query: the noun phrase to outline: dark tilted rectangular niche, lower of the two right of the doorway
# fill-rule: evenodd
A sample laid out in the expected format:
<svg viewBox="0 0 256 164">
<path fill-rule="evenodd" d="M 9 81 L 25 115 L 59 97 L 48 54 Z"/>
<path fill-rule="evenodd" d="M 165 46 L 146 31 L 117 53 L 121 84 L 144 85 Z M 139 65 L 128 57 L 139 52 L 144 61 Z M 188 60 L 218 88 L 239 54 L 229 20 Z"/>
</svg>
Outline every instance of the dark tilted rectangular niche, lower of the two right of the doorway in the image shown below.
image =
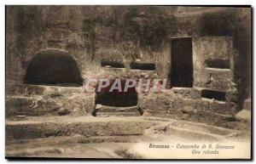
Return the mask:
<svg viewBox="0 0 256 164">
<path fill-rule="evenodd" d="M 219 101 L 225 101 L 226 93 L 221 91 L 203 89 L 201 91 L 201 97 L 207 98 L 207 99 L 216 99 Z"/>
</svg>

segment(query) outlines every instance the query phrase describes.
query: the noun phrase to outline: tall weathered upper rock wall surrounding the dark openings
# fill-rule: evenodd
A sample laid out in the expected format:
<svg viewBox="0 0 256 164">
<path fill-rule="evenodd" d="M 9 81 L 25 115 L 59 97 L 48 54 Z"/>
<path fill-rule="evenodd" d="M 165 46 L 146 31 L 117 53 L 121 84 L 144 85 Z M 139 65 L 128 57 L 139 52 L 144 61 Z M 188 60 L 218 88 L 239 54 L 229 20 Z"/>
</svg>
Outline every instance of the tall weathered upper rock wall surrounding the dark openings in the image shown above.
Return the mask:
<svg viewBox="0 0 256 164">
<path fill-rule="evenodd" d="M 195 87 L 237 88 L 236 102 L 250 92 L 250 8 L 8 6 L 6 25 L 7 82 L 23 83 L 33 57 L 47 48 L 65 49 L 73 55 L 84 79 L 106 74 L 148 76 L 131 71 L 133 61 L 154 63 L 156 71 L 149 76 L 167 77 L 170 38 L 192 37 Z M 216 70 L 204 68 L 204 61 L 198 63 L 218 55 L 219 59 L 232 56 L 230 71 L 217 75 Z M 125 69 L 106 70 L 101 67 L 102 59 L 123 62 Z"/>
</svg>

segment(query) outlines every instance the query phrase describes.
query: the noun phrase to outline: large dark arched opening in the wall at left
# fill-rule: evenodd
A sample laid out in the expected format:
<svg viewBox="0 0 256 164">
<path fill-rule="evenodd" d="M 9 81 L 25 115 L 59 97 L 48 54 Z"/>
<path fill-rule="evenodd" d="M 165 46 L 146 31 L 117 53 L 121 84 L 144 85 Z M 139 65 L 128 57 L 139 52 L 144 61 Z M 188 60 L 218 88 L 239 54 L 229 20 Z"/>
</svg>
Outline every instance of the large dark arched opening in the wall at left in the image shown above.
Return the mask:
<svg viewBox="0 0 256 164">
<path fill-rule="evenodd" d="M 83 85 L 79 67 L 66 51 L 47 49 L 36 54 L 26 69 L 26 84 L 79 87 Z"/>
</svg>

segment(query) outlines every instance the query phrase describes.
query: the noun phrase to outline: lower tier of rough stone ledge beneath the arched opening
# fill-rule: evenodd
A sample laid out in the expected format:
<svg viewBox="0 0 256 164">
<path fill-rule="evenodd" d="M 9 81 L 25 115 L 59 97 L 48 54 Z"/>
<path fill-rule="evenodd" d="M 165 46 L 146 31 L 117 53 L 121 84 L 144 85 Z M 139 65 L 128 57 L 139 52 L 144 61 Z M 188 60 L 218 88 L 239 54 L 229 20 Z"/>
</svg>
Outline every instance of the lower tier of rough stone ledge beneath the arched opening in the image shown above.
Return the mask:
<svg viewBox="0 0 256 164">
<path fill-rule="evenodd" d="M 6 117 L 84 116 L 94 108 L 95 96 L 87 93 L 49 93 L 33 96 L 6 96 Z"/>
</svg>

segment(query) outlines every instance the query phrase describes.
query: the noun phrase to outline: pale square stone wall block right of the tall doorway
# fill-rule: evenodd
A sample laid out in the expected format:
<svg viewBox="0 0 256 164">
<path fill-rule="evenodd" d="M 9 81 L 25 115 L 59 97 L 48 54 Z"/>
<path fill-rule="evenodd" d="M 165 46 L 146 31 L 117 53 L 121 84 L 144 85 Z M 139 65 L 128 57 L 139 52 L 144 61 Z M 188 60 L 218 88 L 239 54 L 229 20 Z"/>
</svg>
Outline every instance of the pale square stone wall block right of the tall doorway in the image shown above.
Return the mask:
<svg viewBox="0 0 256 164">
<path fill-rule="evenodd" d="M 232 37 L 193 38 L 195 87 L 227 91 L 234 89 L 234 67 L 223 67 L 225 63 L 228 64 L 224 66 L 233 63 L 232 42 Z"/>
</svg>

